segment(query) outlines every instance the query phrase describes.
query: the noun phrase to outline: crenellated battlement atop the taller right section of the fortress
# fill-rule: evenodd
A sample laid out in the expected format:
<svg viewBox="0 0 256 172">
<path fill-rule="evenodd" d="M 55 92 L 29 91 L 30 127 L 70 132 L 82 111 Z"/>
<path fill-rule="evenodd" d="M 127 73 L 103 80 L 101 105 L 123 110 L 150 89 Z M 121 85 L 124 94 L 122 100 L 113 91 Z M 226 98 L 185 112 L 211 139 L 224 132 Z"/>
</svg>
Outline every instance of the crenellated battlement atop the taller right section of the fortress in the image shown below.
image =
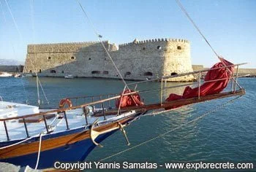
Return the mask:
<svg viewBox="0 0 256 172">
<path fill-rule="evenodd" d="M 142 41 L 138 41 L 137 39 L 135 39 L 133 42 L 128 42 L 128 43 L 124 43 L 124 44 L 119 44 L 119 46 L 127 46 L 129 44 L 145 44 L 148 42 L 184 42 L 184 43 L 189 43 L 189 41 L 187 39 L 170 39 L 170 38 L 161 38 L 161 39 L 146 39 L 146 40 L 142 40 Z"/>
</svg>

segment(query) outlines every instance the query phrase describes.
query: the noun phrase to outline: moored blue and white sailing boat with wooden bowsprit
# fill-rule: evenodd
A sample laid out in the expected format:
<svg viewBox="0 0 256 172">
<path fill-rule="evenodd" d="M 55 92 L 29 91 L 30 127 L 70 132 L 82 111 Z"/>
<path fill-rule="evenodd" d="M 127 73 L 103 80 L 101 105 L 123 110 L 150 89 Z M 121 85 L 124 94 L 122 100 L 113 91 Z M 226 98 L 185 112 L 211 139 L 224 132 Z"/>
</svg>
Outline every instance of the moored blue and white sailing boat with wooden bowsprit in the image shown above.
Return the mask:
<svg viewBox="0 0 256 172">
<path fill-rule="evenodd" d="M 108 54 L 108 50 L 106 52 Z M 167 75 L 129 85 L 124 82 L 124 90 L 120 95 L 63 98 L 59 103 L 59 109 L 2 117 L 0 130 L 4 134 L 0 135 L 0 161 L 22 166 L 29 165 L 32 168 L 49 168 L 56 160 L 60 162 L 85 160 L 94 147 L 102 147 L 100 142 L 117 130 L 121 130 L 129 145 L 124 127 L 143 117 L 147 112 L 154 110 L 165 112 L 192 103 L 244 95 L 245 90 L 238 84 L 238 77 L 242 77 L 238 76 L 238 66 L 243 63 L 232 64 L 225 59 L 219 59 L 221 62 L 208 70 Z M 114 62 L 113 64 L 116 67 Z M 235 67 L 236 75 L 233 75 Z M 206 72 L 206 79 L 201 80 L 201 75 Z M 167 79 L 191 74 L 198 77 L 198 82 L 195 83 L 197 87 L 186 87 L 182 95 L 170 94 L 164 100 L 162 94 L 164 90 L 191 85 L 165 87 L 163 83 Z M 227 83 L 230 80 L 232 80 L 230 91 L 227 91 Z M 138 90 L 138 85 L 153 81 L 161 82 L 161 87 Z M 132 85 L 135 85 L 134 90 L 129 88 Z M 224 89 L 226 91 L 222 92 Z M 140 93 L 152 92 L 159 93 L 159 101 L 143 102 Z M 74 99 L 82 99 L 84 103 L 73 106 Z"/>
</svg>

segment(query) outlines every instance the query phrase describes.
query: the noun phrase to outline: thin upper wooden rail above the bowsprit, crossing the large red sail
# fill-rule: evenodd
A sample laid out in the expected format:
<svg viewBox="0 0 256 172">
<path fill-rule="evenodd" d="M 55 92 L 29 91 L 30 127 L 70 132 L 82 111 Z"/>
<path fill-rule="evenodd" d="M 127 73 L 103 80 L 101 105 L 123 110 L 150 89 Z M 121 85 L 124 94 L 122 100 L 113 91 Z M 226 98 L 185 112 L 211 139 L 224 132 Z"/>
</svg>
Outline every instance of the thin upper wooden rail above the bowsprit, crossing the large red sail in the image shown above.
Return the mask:
<svg viewBox="0 0 256 172">
<path fill-rule="evenodd" d="M 222 66 L 222 67 L 214 68 L 214 69 L 205 69 L 205 70 L 200 70 L 200 71 L 191 71 L 191 72 L 187 72 L 187 73 L 184 73 L 184 74 L 167 75 L 167 76 L 163 76 L 161 78 L 162 79 L 169 79 L 169 78 L 182 77 L 182 76 L 186 76 L 186 75 L 190 75 L 190 74 L 197 74 L 199 72 L 203 73 L 205 71 L 211 71 L 211 70 L 215 70 L 215 69 L 222 69 L 222 68 L 233 67 L 233 66 L 240 66 L 240 65 L 244 65 L 244 64 L 247 64 L 247 63 L 238 63 L 238 64 L 234 64 L 234 65 L 230 65 L 230 66 Z M 140 84 L 140 83 L 144 83 L 144 82 L 158 81 L 161 78 L 155 78 L 155 79 L 150 79 L 150 80 L 140 81 L 140 82 L 132 82 L 132 83 L 129 83 L 127 85 L 136 85 L 136 84 Z"/>
</svg>

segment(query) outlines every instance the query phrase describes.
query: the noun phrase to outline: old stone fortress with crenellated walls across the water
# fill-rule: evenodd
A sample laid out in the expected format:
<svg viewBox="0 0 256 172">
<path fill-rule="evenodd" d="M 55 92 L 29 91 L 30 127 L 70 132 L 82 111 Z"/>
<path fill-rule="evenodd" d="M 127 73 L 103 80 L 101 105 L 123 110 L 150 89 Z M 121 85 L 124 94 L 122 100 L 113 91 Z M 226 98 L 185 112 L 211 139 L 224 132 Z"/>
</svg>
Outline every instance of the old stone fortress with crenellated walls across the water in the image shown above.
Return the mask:
<svg viewBox="0 0 256 172">
<path fill-rule="evenodd" d="M 127 44 L 103 42 L 124 79 L 145 80 L 193 71 L 190 44 L 184 39 L 149 39 Z M 101 77 L 119 79 L 100 42 L 29 44 L 24 73 L 43 77 Z M 188 82 L 194 77 L 171 81 Z"/>
</svg>

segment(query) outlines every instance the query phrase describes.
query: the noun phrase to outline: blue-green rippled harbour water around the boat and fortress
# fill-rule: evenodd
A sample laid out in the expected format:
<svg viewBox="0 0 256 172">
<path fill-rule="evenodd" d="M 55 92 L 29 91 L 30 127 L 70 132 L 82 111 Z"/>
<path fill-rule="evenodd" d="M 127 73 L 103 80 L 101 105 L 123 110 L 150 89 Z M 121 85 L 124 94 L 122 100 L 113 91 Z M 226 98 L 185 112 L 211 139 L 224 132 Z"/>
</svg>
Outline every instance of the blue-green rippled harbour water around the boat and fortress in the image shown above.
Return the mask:
<svg viewBox="0 0 256 172">
<path fill-rule="evenodd" d="M 64 97 L 120 93 L 123 89 L 122 82 L 113 79 L 41 78 L 40 80 L 52 108 L 57 107 L 59 100 Z M 255 163 L 256 79 L 241 78 L 239 82 L 246 89 L 246 95 L 233 103 L 196 122 L 105 161 Z M 176 83 L 167 84 L 176 85 Z M 159 85 L 160 83 L 152 82 L 140 88 L 146 90 L 146 88 L 157 88 Z M 181 93 L 182 90 L 173 90 L 173 92 Z M 30 104 L 36 105 L 36 79 L 0 78 L 0 95 L 4 101 L 24 103 L 29 100 Z M 43 94 L 40 95 L 43 99 Z M 158 94 L 143 96 L 147 102 L 155 101 L 158 97 Z M 232 98 L 208 101 L 156 116 L 141 117 L 126 128 L 130 146 L 126 145 L 124 136 L 118 131 L 102 142 L 103 148 L 94 149 L 86 161 L 101 160 L 148 141 L 215 109 L 230 99 Z"/>
</svg>

